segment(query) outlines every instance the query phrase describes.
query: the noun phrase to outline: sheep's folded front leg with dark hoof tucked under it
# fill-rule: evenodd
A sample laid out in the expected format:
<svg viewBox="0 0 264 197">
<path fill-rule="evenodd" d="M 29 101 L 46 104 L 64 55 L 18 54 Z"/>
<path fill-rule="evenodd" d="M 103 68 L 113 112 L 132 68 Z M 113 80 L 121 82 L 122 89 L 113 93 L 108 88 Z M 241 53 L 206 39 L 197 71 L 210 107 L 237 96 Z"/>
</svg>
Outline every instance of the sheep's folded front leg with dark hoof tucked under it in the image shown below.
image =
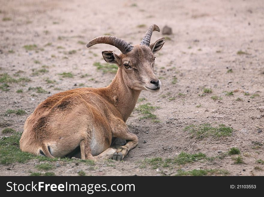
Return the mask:
<svg viewBox="0 0 264 197">
<path fill-rule="evenodd" d="M 120 124 L 120 122 L 119 122 Z M 138 145 L 138 138 L 135 134 L 130 133 L 127 125 L 123 122 L 119 125 L 118 130 L 113 132 L 113 137 L 127 140 L 126 145 L 120 146 L 113 154 L 113 160 L 121 161 L 128 154 L 128 151 L 135 148 Z"/>
</svg>

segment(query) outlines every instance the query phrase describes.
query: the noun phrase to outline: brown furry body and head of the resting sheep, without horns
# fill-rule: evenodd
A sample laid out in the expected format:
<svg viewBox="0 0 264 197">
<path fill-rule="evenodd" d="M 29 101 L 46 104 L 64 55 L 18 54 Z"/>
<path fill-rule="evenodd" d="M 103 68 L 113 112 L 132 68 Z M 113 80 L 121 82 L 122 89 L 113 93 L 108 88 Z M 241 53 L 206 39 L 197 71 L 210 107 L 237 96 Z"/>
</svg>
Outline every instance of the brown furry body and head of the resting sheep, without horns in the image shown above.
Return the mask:
<svg viewBox="0 0 264 197">
<path fill-rule="evenodd" d="M 119 66 L 112 83 L 105 88 L 60 92 L 40 103 L 25 122 L 20 149 L 63 157 L 80 146 L 82 159 L 122 160 L 138 144 L 137 136 L 129 132 L 125 122 L 141 90 L 159 90 L 160 85 L 153 85 L 151 80 L 158 80 L 153 72 L 153 53 L 162 47 L 162 41 L 150 47 L 135 45 L 126 54 L 102 52 L 107 62 Z M 126 69 L 123 64 L 131 67 Z M 126 139 L 127 144 L 110 147 L 113 138 Z"/>
</svg>

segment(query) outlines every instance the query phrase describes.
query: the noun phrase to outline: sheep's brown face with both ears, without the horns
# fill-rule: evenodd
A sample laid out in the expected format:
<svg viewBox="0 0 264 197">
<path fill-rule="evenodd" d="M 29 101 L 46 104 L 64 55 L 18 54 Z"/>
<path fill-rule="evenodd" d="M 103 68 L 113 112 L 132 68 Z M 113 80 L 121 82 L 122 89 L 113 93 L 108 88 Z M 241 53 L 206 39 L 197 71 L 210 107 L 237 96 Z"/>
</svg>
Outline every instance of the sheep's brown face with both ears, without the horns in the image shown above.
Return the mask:
<svg viewBox="0 0 264 197">
<path fill-rule="evenodd" d="M 155 53 L 163 44 L 164 38 L 161 38 L 150 46 L 134 45 L 126 54 L 117 55 L 113 51 L 103 51 L 102 55 L 105 61 L 115 63 L 122 69 L 122 76 L 128 87 L 156 92 L 161 88 L 161 81 L 154 74 Z"/>
</svg>

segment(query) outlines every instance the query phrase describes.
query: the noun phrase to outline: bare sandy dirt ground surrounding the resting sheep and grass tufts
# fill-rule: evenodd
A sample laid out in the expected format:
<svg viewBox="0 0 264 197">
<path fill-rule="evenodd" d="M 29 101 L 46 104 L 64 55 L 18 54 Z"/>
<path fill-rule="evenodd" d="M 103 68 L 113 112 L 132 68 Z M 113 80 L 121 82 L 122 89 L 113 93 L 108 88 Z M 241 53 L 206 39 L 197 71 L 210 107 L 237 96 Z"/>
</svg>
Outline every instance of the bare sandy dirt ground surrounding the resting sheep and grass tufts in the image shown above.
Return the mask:
<svg viewBox="0 0 264 197">
<path fill-rule="evenodd" d="M 94 169 L 82 163 L 64 163 L 52 170 L 56 175 L 77 175 L 78 170 L 86 175 L 175 175 L 178 169 L 264 175 L 263 164 L 256 163 L 264 160 L 263 146 L 252 148 L 252 141 L 264 142 L 264 112 L 259 110 L 264 106 L 264 1 L 127 0 L 106 4 L 102 0 L 4 0 L 0 7 L 0 73 L 14 77 L 22 70 L 19 75 L 31 79 L 10 83 L 10 91 L 0 90 L 0 130 L 8 126 L 22 132 L 26 118 L 52 94 L 78 88 L 81 83 L 88 87 L 110 84 L 114 74 L 97 70 L 93 63 L 104 63 L 101 51 L 120 51 L 105 44 L 87 49 L 86 43 L 92 38 L 111 34 L 137 44 L 153 23 L 161 29 L 165 25 L 173 29 L 172 35 L 152 35 L 152 42 L 166 36 L 155 60 L 162 87 L 158 93 L 142 91 L 140 98 L 146 100 L 137 103 L 159 106 L 153 113 L 161 122 L 141 120 L 137 111 L 132 112 L 127 124 L 139 137 L 139 145 L 124 162 L 98 162 Z M 34 50 L 23 48 L 33 44 L 37 45 Z M 76 52 L 69 54 L 71 50 Z M 32 69 L 39 70 L 42 65 L 48 72 L 33 76 Z M 73 77 L 63 78 L 58 75 L 62 72 L 71 72 Z M 88 76 L 81 77 L 85 74 Z M 47 83 L 47 77 L 56 82 Z M 29 87 L 48 92 L 35 93 Z M 212 93 L 201 96 L 204 88 L 211 88 Z M 18 89 L 23 92 L 17 93 Z M 233 95 L 226 96 L 226 91 Z M 252 98 L 253 94 L 259 96 Z M 214 101 L 211 96 L 223 99 Z M 242 100 L 237 101 L 238 97 Z M 5 116 L 7 109 L 24 109 L 26 115 Z M 202 140 L 190 138 L 191 134 L 184 131 L 187 125 L 204 123 L 229 125 L 234 131 L 229 137 Z M 3 136 L 8 134 L 1 133 Z M 173 169 L 144 169 L 137 163 L 144 158 L 172 158 L 182 151 L 216 157 L 231 147 L 240 149 L 244 163 L 234 164 L 232 156 Z M 0 175 L 30 175 L 30 171 L 38 171 L 34 168 L 37 163 L 30 160 L 0 165 Z"/>
</svg>

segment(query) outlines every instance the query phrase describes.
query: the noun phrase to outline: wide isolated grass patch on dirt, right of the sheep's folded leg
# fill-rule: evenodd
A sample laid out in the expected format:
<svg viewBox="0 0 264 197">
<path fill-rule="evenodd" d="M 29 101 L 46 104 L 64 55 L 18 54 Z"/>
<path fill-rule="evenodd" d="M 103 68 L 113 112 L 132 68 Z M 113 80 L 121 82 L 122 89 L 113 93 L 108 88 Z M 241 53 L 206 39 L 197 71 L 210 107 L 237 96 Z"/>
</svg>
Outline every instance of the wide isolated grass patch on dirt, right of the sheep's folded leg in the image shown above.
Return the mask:
<svg viewBox="0 0 264 197">
<path fill-rule="evenodd" d="M 231 136 L 233 132 L 232 127 L 226 127 L 224 124 L 220 124 L 217 127 L 211 126 L 211 124 L 202 124 L 202 125 L 194 125 L 191 124 L 184 128 L 184 131 L 188 131 L 191 133 L 191 138 L 195 137 L 196 139 L 205 139 L 209 136 L 212 137 L 225 137 Z"/>
</svg>

